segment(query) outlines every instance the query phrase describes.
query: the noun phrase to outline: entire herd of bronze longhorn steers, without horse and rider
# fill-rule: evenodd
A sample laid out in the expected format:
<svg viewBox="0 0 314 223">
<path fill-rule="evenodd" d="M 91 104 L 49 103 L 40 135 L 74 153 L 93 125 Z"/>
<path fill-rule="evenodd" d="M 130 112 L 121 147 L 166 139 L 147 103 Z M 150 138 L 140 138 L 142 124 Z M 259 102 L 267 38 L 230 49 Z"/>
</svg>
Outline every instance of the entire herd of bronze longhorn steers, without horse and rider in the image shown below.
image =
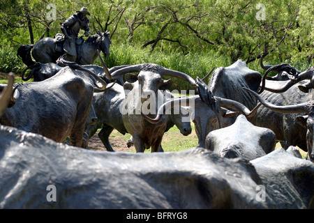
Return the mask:
<svg viewBox="0 0 314 223">
<path fill-rule="evenodd" d="M 238 60 L 206 84 L 154 63 L 108 69 L 98 56 L 102 66 L 24 57 L 33 82 L 10 74 L 0 85 L 0 208 L 314 208 L 313 67 L 261 62 L 262 76 Z M 197 94 L 173 95 L 169 77 Z M 142 153 L 163 152 L 174 125 L 190 134 L 190 120 L 195 148 Z M 107 151 L 116 129 L 137 153 L 86 149 L 100 128 Z"/>
</svg>

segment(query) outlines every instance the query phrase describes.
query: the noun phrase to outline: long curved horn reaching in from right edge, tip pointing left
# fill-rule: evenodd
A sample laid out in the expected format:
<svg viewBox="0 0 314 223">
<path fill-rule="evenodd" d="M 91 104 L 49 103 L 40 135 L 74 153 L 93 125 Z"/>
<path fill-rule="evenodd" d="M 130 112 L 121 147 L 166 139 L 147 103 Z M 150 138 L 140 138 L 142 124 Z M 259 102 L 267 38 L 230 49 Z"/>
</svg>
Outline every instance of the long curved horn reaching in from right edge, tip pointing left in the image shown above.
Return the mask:
<svg viewBox="0 0 314 223">
<path fill-rule="evenodd" d="M 270 102 L 267 102 L 267 100 L 264 100 L 260 95 L 252 91 L 251 89 L 243 88 L 245 91 L 248 91 L 249 93 L 252 93 L 257 100 L 259 100 L 264 107 L 267 107 L 271 111 L 283 113 L 283 114 L 292 114 L 292 113 L 304 113 L 306 112 L 306 107 L 308 107 L 310 104 L 313 104 L 313 101 L 311 102 L 304 102 L 298 105 L 286 105 L 286 106 L 280 106 L 280 105 L 273 105 Z M 307 113 L 307 112 L 306 112 Z"/>
</svg>

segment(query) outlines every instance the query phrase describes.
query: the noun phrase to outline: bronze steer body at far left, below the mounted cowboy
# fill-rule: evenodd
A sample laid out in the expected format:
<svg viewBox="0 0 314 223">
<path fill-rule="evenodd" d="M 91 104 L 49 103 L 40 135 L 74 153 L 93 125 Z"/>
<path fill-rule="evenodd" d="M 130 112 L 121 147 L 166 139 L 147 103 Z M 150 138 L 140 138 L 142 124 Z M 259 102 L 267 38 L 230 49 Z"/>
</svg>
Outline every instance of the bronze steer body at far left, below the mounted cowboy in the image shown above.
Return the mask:
<svg viewBox="0 0 314 223">
<path fill-rule="evenodd" d="M 20 99 L 6 109 L 1 124 L 58 142 L 70 136 L 70 144 L 82 145 L 94 93 L 89 77 L 66 67 L 43 82 L 18 84 L 18 91 Z"/>
</svg>

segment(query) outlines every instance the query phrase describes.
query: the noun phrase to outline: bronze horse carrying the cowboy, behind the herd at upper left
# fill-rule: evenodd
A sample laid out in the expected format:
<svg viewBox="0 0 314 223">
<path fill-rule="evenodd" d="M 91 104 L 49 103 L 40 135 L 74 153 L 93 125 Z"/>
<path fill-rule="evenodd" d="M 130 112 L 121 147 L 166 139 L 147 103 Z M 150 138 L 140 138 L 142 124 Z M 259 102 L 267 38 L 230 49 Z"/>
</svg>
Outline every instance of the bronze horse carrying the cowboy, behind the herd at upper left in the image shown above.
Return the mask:
<svg viewBox="0 0 314 223">
<path fill-rule="evenodd" d="M 105 57 L 110 55 L 109 47 L 111 40 L 109 31 L 89 36 L 85 41 L 82 37 L 77 38 L 76 43 L 77 59 L 75 63 L 80 65 L 93 64 L 98 56 L 97 49 L 103 52 Z M 50 37 L 43 38 L 34 45 L 22 45 L 17 49 L 17 56 L 27 66 L 33 66 L 36 62 L 56 63 L 57 59 L 63 54 L 65 54 L 63 51 L 63 41 L 58 41 L 57 38 Z M 31 59 L 31 56 L 33 56 L 35 61 Z"/>
</svg>

